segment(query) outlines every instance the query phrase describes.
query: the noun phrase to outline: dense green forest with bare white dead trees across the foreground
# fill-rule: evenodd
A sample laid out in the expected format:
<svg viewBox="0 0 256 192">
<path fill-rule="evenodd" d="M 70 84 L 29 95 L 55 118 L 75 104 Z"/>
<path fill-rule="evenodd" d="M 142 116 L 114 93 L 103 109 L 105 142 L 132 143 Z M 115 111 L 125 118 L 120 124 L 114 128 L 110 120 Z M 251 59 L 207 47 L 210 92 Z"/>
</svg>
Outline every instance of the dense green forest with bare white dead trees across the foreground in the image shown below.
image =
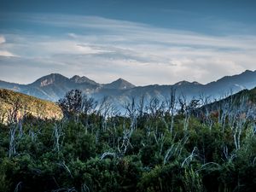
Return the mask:
<svg viewBox="0 0 256 192">
<path fill-rule="evenodd" d="M 254 191 L 251 93 L 210 102 L 171 90 L 119 113 L 71 90 L 58 102 L 61 119 L 20 116 L 16 105 L 0 123 L 0 191 Z"/>
</svg>

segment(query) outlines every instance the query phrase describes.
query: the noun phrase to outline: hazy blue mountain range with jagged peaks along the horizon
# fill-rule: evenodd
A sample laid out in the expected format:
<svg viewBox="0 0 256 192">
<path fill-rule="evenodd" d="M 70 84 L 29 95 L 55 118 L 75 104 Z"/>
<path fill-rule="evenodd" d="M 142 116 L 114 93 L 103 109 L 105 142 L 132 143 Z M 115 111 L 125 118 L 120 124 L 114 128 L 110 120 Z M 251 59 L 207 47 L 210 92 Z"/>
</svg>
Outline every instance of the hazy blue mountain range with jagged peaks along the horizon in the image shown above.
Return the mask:
<svg viewBox="0 0 256 192">
<path fill-rule="evenodd" d="M 16 84 L 0 80 L 0 88 L 15 90 L 52 102 L 56 102 L 65 96 L 68 90 L 79 89 L 98 101 L 107 96 L 108 99 L 120 105 L 131 101 L 132 97 L 140 98 L 144 96 L 146 101 L 154 97 L 165 100 L 167 96 L 170 96 L 172 90 L 176 90 L 177 96 L 186 96 L 188 100 L 198 96 L 211 96 L 213 100 L 214 98 L 218 99 L 231 93 L 234 94 L 240 90 L 253 89 L 255 86 L 256 71 L 249 70 L 241 74 L 226 76 L 208 84 L 181 81 L 177 84 L 169 85 L 151 84 L 136 86 L 125 79 L 117 79 L 109 84 L 99 84 L 84 76 L 75 75 L 73 78 L 68 79 L 58 73 L 46 75 L 37 79 L 32 84 Z"/>
</svg>

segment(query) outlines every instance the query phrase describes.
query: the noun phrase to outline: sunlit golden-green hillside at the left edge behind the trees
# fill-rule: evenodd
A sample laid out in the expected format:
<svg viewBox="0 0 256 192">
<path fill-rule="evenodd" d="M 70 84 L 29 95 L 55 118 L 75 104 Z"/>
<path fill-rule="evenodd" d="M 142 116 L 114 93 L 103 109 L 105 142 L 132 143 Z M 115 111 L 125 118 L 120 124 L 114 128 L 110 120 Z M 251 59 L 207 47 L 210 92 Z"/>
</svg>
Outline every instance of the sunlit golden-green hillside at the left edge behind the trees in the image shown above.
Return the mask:
<svg viewBox="0 0 256 192">
<path fill-rule="evenodd" d="M 44 101 L 33 96 L 27 96 L 13 90 L 0 89 L 0 115 L 7 119 L 9 114 L 18 106 L 18 116 L 31 113 L 42 119 L 60 119 L 61 108 L 54 102 Z"/>
</svg>

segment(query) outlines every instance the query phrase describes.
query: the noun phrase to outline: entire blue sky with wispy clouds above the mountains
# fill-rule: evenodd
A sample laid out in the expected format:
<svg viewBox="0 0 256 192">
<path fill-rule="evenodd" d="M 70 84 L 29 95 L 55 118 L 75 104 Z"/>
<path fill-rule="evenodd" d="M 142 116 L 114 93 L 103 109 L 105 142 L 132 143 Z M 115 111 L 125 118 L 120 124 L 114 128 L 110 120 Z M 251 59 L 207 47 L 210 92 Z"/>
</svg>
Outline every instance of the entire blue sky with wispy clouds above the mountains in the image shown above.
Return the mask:
<svg viewBox="0 0 256 192">
<path fill-rule="evenodd" d="M 253 0 L 0 0 L 0 79 L 201 84 L 256 70 Z"/>
</svg>

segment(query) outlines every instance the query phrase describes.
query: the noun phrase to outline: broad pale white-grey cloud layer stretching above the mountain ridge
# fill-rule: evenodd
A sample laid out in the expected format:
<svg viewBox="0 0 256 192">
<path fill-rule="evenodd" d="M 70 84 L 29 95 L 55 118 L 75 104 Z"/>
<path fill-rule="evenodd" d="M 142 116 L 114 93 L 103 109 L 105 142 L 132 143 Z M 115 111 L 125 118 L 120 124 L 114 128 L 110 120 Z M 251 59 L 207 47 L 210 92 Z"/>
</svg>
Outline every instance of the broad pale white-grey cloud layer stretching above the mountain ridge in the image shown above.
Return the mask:
<svg viewBox="0 0 256 192">
<path fill-rule="evenodd" d="M 50 26 L 58 33 L 4 34 L 12 42 L 3 38 L 0 55 L 20 56 L 19 60 L 0 60 L 1 69 L 8 69 L 9 73 L 35 71 L 37 77 L 46 73 L 68 77 L 79 74 L 100 83 L 121 77 L 144 85 L 173 84 L 183 79 L 207 83 L 256 69 L 256 37 L 252 34 L 213 36 L 91 16 L 15 18 L 31 26 Z M 20 63 L 24 65 L 21 69 Z M 0 75 L 3 76 L 3 70 Z M 19 83 L 23 83 L 21 79 Z"/>
</svg>

